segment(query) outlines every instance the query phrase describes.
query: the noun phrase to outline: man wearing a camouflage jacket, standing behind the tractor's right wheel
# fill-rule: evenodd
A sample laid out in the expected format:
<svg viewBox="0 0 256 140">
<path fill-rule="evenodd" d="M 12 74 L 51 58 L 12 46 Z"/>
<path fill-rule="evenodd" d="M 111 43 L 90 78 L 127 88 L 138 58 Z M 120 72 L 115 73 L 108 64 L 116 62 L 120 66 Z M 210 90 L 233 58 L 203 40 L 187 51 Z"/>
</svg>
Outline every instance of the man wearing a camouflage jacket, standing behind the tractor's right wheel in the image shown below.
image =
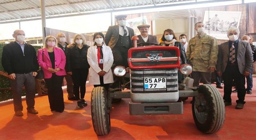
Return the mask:
<svg viewBox="0 0 256 140">
<path fill-rule="evenodd" d="M 193 86 L 199 86 L 200 80 L 204 84 L 211 84 L 211 72 L 216 69 L 218 58 L 218 43 L 216 38 L 204 33 L 204 24 L 198 22 L 194 28 L 197 35 L 188 42 L 188 64 L 193 66 Z"/>
</svg>

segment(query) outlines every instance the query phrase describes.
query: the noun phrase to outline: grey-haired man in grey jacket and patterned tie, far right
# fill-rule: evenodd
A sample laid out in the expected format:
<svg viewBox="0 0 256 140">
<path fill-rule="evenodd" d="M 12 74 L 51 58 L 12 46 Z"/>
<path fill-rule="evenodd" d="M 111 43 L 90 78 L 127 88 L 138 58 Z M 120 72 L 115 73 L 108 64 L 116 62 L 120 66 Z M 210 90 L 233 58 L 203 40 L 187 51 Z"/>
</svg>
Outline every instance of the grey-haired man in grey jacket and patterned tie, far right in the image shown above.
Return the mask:
<svg viewBox="0 0 256 140">
<path fill-rule="evenodd" d="M 238 28 L 230 28 L 228 30 L 229 41 L 220 44 L 217 61 L 217 73 L 223 77 L 224 81 L 223 99 L 225 106 L 232 105 L 232 81 L 236 81 L 238 90 L 236 109 L 244 107 L 244 97 L 246 94 L 245 76 L 250 74 L 253 62 L 250 44 L 239 40 L 239 33 Z"/>
</svg>

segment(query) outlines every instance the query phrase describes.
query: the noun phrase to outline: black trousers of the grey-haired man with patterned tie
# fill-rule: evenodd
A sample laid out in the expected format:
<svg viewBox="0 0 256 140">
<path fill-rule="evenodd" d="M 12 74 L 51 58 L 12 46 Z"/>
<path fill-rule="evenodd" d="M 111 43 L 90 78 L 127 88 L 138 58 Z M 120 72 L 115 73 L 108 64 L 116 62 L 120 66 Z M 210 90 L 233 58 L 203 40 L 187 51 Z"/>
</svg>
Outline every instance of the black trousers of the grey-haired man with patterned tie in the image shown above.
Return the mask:
<svg viewBox="0 0 256 140">
<path fill-rule="evenodd" d="M 226 66 L 225 71 L 222 74 L 224 82 L 224 101 L 231 102 L 232 82 L 236 81 L 237 97 L 236 103 L 244 104 L 245 97 L 245 77 L 240 74 L 238 66 Z"/>
</svg>

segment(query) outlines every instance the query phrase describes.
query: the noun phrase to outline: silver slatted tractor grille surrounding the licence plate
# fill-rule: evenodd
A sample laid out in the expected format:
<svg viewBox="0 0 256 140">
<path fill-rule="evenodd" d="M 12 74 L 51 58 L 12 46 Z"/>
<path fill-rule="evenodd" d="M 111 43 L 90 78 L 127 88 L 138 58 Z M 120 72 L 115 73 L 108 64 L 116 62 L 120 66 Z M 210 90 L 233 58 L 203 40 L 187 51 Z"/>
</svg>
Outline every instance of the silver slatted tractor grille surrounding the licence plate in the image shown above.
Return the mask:
<svg viewBox="0 0 256 140">
<path fill-rule="evenodd" d="M 178 69 L 144 69 L 130 70 L 132 93 L 178 92 Z M 144 89 L 144 78 L 166 77 L 166 88 Z"/>
</svg>

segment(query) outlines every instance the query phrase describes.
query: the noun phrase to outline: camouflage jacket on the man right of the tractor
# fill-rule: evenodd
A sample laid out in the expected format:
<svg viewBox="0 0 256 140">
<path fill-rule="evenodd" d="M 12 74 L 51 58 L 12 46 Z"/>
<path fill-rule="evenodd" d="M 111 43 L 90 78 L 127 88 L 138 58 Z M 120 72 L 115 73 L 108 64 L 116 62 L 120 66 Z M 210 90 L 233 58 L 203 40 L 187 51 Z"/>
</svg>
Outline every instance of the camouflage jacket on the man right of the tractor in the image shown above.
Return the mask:
<svg viewBox="0 0 256 140">
<path fill-rule="evenodd" d="M 218 43 L 216 38 L 202 34 L 190 39 L 187 48 L 188 63 L 193 66 L 194 72 L 210 72 L 215 68 L 218 58 Z"/>
</svg>

